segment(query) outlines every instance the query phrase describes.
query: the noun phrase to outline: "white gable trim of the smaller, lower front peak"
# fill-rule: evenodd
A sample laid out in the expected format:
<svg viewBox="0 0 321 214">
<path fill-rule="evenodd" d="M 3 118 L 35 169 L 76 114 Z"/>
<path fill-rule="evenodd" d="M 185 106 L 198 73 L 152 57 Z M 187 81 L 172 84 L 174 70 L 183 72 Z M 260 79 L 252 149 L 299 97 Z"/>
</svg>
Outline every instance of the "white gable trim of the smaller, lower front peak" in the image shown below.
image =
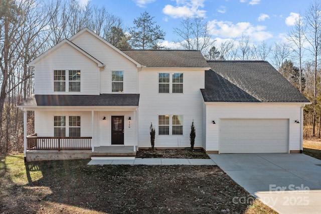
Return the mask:
<svg viewBox="0 0 321 214">
<path fill-rule="evenodd" d="M 86 57 L 88 57 L 89 59 L 91 59 L 92 61 L 94 61 L 95 63 L 97 63 L 98 67 L 104 67 L 105 65 L 100 62 L 98 59 L 96 59 L 95 57 L 91 56 L 89 53 L 87 53 L 86 51 L 84 51 L 83 49 L 81 49 L 80 47 L 78 47 L 76 44 L 72 43 L 71 41 L 64 39 L 63 41 L 59 42 L 57 45 L 55 45 L 54 47 L 50 48 L 48 51 L 46 51 L 45 53 L 43 53 L 42 55 L 40 55 L 39 57 L 37 57 L 36 59 L 32 60 L 28 65 L 29 66 L 35 66 L 35 64 L 42 60 L 43 58 L 45 58 L 46 56 L 48 56 L 50 53 L 58 50 L 60 47 L 62 47 L 64 44 L 68 44 L 69 46 L 71 46 L 72 48 L 76 49 L 77 51 L 79 51 L 80 53 L 82 53 L 83 55 L 85 55 Z"/>
</svg>

